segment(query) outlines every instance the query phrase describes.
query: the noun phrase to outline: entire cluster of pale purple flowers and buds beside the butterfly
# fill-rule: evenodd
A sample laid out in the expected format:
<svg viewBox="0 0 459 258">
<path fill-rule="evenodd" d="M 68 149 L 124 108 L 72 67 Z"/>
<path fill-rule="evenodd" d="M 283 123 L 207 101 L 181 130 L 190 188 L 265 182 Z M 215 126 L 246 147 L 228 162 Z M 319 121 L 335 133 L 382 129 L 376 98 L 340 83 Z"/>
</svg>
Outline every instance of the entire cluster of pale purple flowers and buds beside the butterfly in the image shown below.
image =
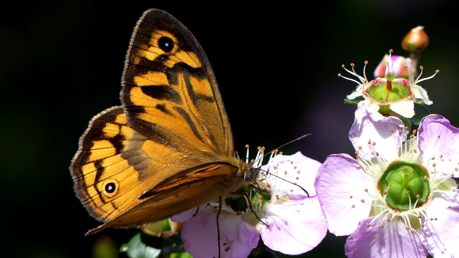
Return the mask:
<svg viewBox="0 0 459 258">
<path fill-rule="evenodd" d="M 300 152 L 273 152 L 262 165 L 259 148 L 253 168 L 260 173 L 240 190 L 241 209 L 216 200 L 172 218 L 184 223 L 185 250 L 196 258 L 245 258 L 263 242 L 295 255 L 329 230 L 348 236 L 349 258 L 457 257 L 459 129 L 423 106 L 433 102 L 419 83 L 439 73 L 420 79 L 421 66 L 416 74 L 428 43 L 422 27 L 412 29 L 402 41 L 410 57 L 390 50 L 370 81 L 368 61 L 363 76 L 353 63 L 351 70 L 342 65 L 358 79 L 338 74 L 358 84 L 345 100 L 358 106 L 348 135 L 355 158 L 333 154 L 321 164 Z"/>
</svg>

